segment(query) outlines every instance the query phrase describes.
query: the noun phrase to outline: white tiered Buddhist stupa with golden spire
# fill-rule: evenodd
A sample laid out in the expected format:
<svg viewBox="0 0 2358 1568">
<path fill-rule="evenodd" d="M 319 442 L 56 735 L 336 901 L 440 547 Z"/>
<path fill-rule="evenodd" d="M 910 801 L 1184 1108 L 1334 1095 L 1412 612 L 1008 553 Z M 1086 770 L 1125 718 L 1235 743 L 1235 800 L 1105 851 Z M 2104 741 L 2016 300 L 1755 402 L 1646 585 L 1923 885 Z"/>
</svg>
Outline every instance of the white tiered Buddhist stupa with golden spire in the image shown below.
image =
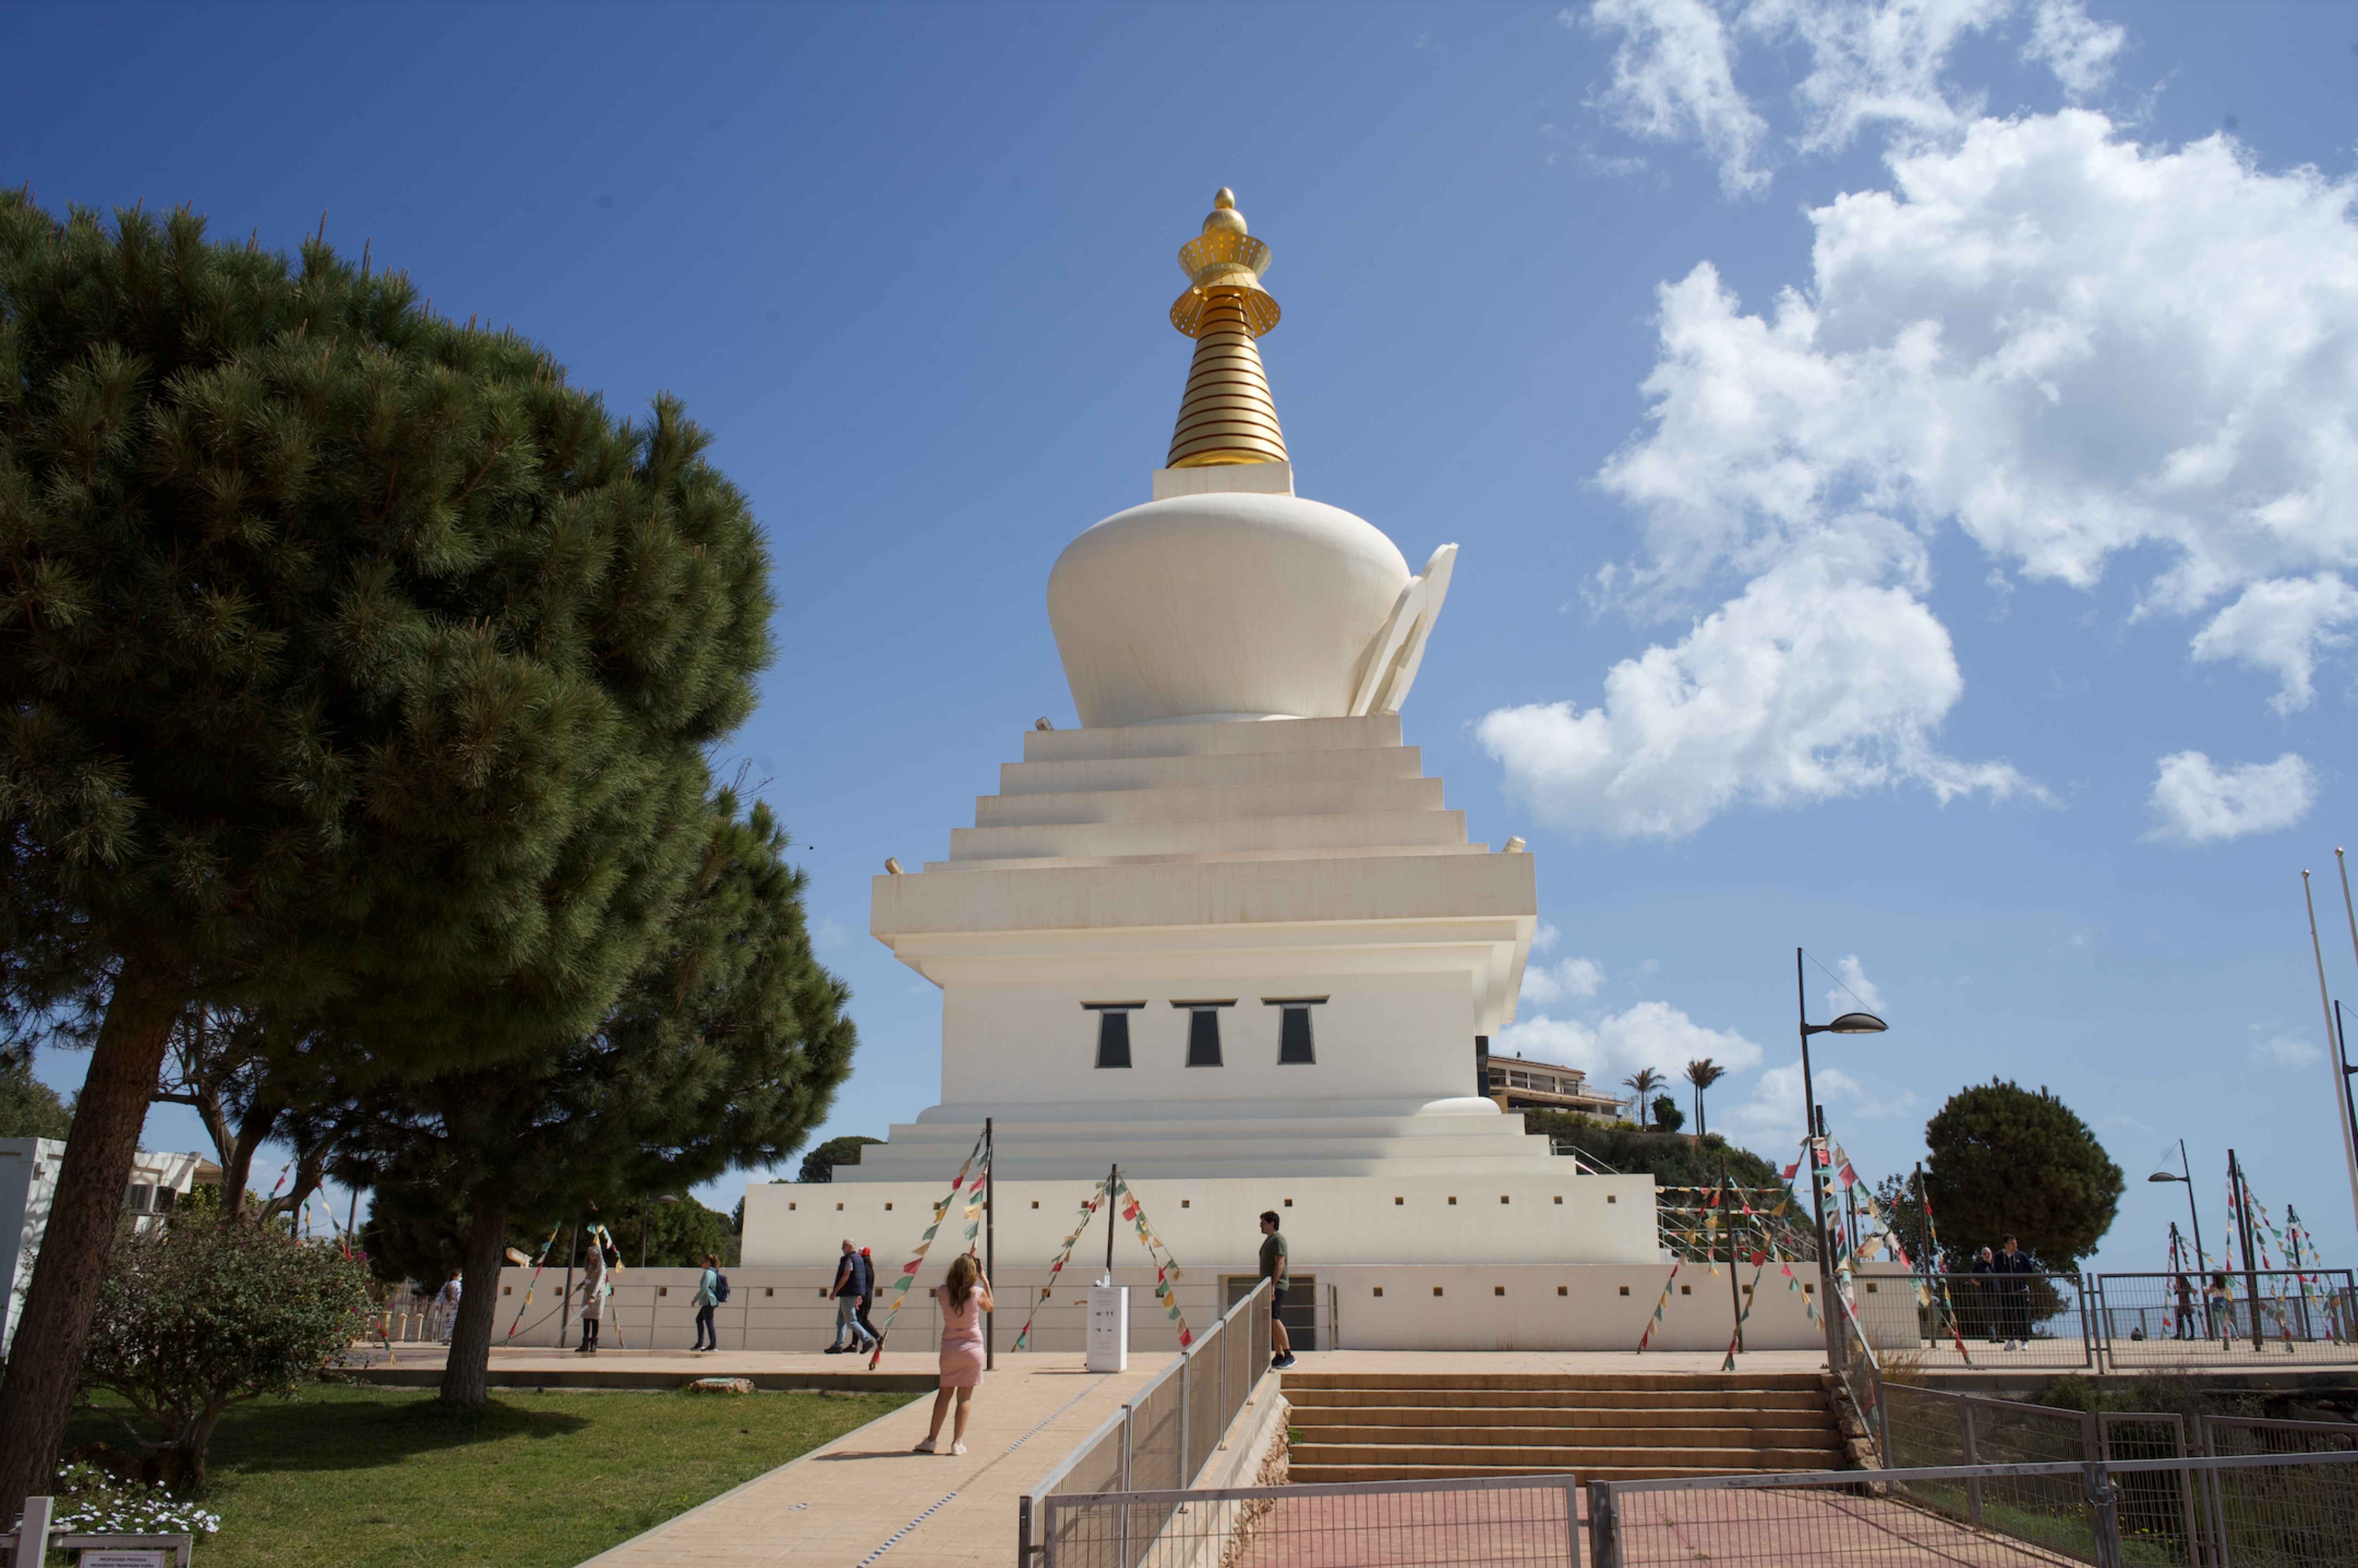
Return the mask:
<svg viewBox="0 0 2358 1568">
<path fill-rule="evenodd" d="M 943 993 L 941 1103 L 832 1184 L 750 1186 L 745 1266 L 823 1269 L 851 1236 L 889 1283 L 988 1118 L 1002 1299 L 1120 1165 L 1198 1299 L 1250 1283 L 1278 1210 L 1346 1344 L 1634 1344 L 1662 1273 L 1653 1179 L 1580 1177 L 1486 1070 L 1533 858 L 1467 842 L 1401 733 L 1457 547 L 1410 573 L 1295 493 L 1257 349 L 1266 262 L 1221 191 L 1179 252 L 1196 356 L 1151 500 L 1049 575 L 1080 729 L 1042 719 L 948 858 L 875 879 L 870 931 Z M 957 1236 L 953 1214 L 927 1280 Z M 1080 1261 L 1104 1269 L 1101 1231 Z M 1127 1233 L 1115 1261 L 1144 1261 Z M 1162 1330 L 1144 1311 L 1141 1346 Z"/>
</svg>

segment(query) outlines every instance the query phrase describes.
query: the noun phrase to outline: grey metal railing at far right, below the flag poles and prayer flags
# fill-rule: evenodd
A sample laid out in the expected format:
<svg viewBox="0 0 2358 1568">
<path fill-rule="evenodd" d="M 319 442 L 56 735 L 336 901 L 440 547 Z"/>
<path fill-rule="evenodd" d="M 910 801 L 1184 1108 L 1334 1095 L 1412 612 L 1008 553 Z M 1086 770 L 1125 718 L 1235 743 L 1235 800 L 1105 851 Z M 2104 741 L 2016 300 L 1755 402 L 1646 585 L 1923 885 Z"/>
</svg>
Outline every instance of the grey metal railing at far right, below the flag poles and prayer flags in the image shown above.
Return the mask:
<svg viewBox="0 0 2358 1568">
<path fill-rule="evenodd" d="M 2219 1278 L 2224 1299 L 2205 1294 Z M 2115 1368 L 2358 1361 L 2349 1269 L 2099 1273 L 2094 1285 L 2096 1332 Z"/>
</svg>

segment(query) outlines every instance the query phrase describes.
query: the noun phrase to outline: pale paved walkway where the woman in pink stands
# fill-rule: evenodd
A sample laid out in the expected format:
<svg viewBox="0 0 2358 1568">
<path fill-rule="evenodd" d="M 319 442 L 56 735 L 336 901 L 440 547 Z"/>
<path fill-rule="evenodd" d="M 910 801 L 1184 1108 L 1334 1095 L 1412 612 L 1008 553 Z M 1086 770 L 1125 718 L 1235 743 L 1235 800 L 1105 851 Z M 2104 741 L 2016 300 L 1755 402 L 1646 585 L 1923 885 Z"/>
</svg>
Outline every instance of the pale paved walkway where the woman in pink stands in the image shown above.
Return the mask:
<svg viewBox="0 0 2358 1568">
<path fill-rule="evenodd" d="M 894 1361 L 931 1365 L 934 1356 L 887 1353 L 884 1363 Z M 934 1415 L 934 1401 L 920 1398 L 590 1561 L 597 1568 L 1007 1568 L 1016 1556 L 1016 1497 L 1165 1361 L 1132 1356 L 1127 1372 L 1104 1375 L 1080 1370 L 1075 1356 L 1005 1356 L 974 1396 L 964 1455 L 910 1452 Z M 707 1372 L 736 1370 L 722 1356 L 705 1363 Z"/>
</svg>

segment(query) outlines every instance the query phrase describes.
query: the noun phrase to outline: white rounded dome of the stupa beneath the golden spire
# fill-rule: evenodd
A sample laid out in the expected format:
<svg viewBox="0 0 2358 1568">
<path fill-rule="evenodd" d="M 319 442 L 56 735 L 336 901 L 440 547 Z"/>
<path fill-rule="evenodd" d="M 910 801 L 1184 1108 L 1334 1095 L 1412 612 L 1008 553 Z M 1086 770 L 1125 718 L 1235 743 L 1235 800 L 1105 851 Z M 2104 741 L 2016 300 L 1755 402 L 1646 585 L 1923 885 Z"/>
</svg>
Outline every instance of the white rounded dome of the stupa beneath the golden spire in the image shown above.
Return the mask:
<svg viewBox="0 0 2358 1568">
<path fill-rule="evenodd" d="M 1408 561 L 1299 495 L 1210 493 L 1115 512 L 1047 580 L 1085 726 L 1351 712 Z"/>
</svg>

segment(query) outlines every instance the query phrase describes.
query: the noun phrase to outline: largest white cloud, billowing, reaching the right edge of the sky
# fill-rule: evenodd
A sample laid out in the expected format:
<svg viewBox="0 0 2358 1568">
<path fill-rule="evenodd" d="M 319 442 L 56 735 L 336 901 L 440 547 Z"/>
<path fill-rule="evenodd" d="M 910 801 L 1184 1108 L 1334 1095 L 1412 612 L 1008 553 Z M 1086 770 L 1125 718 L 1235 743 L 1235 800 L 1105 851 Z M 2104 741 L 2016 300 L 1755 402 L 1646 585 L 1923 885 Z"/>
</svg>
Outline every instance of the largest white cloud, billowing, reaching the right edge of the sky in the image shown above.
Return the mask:
<svg viewBox="0 0 2358 1568">
<path fill-rule="evenodd" d="M 1658 575 L 1945 521 L 2075 587 L 2150 547 L 2179 613 L 2358 564 L 2358 184 L 2087 111 L 1891 172 L 1811 212 L 1811 285 L 1771 316 L 1710 264 L 1662 288 L 1653 429 L 1601 474 Z"/>
</svg>

